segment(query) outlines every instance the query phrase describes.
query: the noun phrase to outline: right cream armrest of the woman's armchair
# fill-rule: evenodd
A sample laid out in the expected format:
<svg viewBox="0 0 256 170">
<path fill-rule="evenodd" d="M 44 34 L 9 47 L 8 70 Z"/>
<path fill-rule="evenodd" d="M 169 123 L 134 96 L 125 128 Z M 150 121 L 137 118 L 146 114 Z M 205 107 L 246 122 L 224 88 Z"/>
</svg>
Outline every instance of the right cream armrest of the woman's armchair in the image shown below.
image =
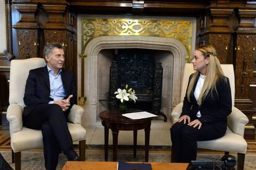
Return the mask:
<svg viewBox="0 0 256 170">
<path fill-rule="evenodd" d="M 238 135 L 244 137 L 244 127 L 249 122 L 247 116 L 239 109 L 232 107 L 232 113 L 228 116 L 229 128 Z"/>
</svg>

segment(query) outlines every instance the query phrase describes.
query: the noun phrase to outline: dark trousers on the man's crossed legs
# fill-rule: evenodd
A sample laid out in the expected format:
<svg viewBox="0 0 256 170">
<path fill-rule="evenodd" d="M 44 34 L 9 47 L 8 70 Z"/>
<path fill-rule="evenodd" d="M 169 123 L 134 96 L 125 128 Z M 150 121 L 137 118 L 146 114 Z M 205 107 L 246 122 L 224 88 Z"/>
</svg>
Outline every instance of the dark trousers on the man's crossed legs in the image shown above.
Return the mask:
<svg viewBox="0 0 256 170">
<path fill-rule="evenodd" d="M 46 169 L 56 169 L 59 152 L 65 154 L 72 147 L 67 114 L 58 104 L 39 104 L 23 117 L 25 127 L 42 131 Z"/>
</svg>

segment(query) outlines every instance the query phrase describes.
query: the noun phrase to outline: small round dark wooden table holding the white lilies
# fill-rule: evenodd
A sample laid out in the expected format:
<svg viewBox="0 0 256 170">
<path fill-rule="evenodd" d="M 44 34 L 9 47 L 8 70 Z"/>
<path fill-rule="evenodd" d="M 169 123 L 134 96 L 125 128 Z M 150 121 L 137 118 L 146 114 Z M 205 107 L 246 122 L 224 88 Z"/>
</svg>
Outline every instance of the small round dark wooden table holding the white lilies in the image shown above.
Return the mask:
<svg viewBox="0 0 256 170">
<path fill-rule="evenodd" d="M 137 130 L 145 130 L 145 162 L 148 162 L 148 148 L 150 141 L 151 119 L 132 120 L 122 116 L 117 110 L 108 110 L 100 113 L 101 123 L 105 127 L 105 161 L 108 161 L 108 132 L 109 129 L 113 135 L 113 161 L 117 161 L 117 143 L 119 130 L 134 131 L 134 158 L 136 158 Z"/>
</svg>

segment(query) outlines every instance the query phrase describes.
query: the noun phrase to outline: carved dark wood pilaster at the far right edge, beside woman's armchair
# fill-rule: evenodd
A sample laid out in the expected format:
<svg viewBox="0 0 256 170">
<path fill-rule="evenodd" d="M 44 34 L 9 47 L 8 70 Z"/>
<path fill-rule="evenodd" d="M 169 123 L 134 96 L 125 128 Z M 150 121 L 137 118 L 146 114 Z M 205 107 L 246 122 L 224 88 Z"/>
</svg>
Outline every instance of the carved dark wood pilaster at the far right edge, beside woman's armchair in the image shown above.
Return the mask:
<svg viewBox="0 0 256 170">
<path fill-rule="evenodd" d="M 255 109 L 252 109 L 253 98 L 250 98 L 250 80 L 253 76 L 255 40 L 256 35 L 237 35 L 235 61 L 236 106 L 249 118 L 249 123 L 245 126 L 245 138 L 250 140 L 255 140 L 255 128 L 252 122 Z"/>
</svg>

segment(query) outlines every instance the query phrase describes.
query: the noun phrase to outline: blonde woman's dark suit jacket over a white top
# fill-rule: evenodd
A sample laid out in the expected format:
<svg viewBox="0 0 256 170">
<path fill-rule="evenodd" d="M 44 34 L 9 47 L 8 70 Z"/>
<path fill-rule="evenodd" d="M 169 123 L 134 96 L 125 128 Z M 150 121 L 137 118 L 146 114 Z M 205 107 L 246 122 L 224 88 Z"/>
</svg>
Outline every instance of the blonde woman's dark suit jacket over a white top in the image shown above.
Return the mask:
<svg viewBox="0 0 256 170">
<path fill-rule="evenodd" d="M 189 82 L 192 78 L 190 75 Z M 197 77 L 198 81 L 199 75 Z M 231 88 L 229 85 L 228 77 L 219 77 L 216 82 L 216 90 L 213 90 L 213 95 L 208 93 L 205 100 L 202 101 L 201 106 L 198 106 L 197 100 L 194 96 L 194 90 L 197 85 L 197 81 L 194 84 L 192 95 L 190 95 L 190 101 L 187 100 L 187 93 L 184 97 L 182 115 L 188 115 L 192 119 L 198 119 L 202 124 L 214 124 L 216 128 L 222 132 L 226 132 L 227 117 L 232 111 L 232 98 Z M 201 117 L 196 117 L 196 114 L 200 110 Z"/>
</svg>

